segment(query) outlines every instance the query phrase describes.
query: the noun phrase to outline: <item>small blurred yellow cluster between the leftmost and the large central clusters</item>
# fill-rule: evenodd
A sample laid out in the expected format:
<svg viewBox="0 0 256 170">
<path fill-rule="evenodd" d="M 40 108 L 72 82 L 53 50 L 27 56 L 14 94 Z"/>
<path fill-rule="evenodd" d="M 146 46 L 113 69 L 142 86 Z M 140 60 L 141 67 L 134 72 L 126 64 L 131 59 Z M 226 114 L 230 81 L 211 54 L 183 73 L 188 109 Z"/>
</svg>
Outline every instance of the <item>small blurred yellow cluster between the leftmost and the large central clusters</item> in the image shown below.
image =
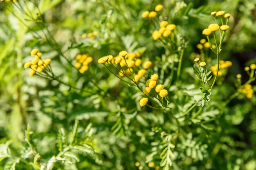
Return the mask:
<svg viewBox="0 0 256 170">
<path fill-rule="evenodd" d="M 88 64 L 93 60 L 88 54 L 77 54 L 75 59 L 75 68 L 79 69 L 79 72 L 83 74 L 88 70 Z"/>
</svg>

